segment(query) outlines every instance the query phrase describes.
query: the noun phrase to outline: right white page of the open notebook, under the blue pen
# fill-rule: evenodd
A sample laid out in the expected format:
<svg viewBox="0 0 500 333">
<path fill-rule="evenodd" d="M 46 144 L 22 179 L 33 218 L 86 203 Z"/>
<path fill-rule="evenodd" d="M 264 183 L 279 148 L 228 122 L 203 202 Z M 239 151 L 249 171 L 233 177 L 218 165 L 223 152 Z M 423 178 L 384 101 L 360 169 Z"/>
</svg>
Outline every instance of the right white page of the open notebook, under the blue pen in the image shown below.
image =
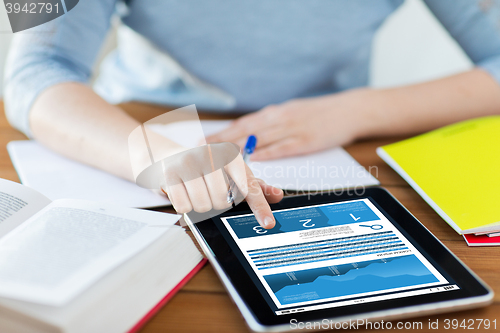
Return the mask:
<svg viewBox="0 0 500 333">
<path fill-rule="evenodd" d="M 208 136 L 222 131 L 230 123 L 231 121 L 227 120 L 204 120 L 201 121 L 201 126 L 205 136 Z M 192 135 L 199 133 L 196 121 L 148 126 L 152 131 L 188 148 L 197 147 L 203 139 Z M 262 162 L 252 161 L 250 158 L 248 166 L 255 177 L 284 190 L 315 192 L 379 184 L 379 181 L 342 147 Z"/>
</svg>

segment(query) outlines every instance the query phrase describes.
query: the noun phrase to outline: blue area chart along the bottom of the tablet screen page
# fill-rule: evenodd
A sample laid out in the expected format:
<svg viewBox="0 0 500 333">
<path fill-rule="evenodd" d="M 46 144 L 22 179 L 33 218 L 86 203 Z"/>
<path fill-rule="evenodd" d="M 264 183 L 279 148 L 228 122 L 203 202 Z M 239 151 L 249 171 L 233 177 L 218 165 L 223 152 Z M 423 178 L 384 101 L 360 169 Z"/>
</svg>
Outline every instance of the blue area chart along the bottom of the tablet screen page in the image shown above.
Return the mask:
<svg viewBox="0 0 500 333">
<path fill-rule="evenodd" d="M 281 304 L 438 282 L 414 255 L 264 276 Z"/>
</svg>

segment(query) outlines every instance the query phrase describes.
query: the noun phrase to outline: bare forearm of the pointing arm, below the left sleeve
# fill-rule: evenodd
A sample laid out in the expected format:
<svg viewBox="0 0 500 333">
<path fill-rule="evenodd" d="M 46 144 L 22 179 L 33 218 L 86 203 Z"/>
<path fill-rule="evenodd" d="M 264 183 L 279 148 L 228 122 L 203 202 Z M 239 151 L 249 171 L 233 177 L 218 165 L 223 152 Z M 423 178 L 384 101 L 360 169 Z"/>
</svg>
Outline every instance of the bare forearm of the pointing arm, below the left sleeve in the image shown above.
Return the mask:
<svg viewBox="0 0 500 333">
<path fill-rule="evenodd" d="M 104 101 L 89 87 L 77 83 L 50 87 L 33 104 L 29 120 L 33 136 L 43 145 L 69 158 L 134 180 L 128 136 L 140 123 Z M 165 144 L 170 148 L 168 140 Z"/>
</svg>

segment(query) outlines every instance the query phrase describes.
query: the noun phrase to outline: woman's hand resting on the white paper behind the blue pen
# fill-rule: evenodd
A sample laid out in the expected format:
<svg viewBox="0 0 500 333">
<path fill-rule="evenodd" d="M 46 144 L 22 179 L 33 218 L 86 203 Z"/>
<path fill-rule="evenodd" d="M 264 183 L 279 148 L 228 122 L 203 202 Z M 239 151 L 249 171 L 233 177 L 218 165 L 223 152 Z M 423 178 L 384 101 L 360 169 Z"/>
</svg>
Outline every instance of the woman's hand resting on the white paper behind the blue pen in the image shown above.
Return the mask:
<svg viewBox="0 0 500 333">
<path fill-rule="evenodd" d="M 308 154 L 341 146 L 362 137 L 370 126 L 375 91 L 356 89 L 344 93 L 291 100 L 270 105 L 235 120 L 207 138 L 229 141 L 240 147 L 248 135 L 257 137 L 252 160 Z"/>
</svg>

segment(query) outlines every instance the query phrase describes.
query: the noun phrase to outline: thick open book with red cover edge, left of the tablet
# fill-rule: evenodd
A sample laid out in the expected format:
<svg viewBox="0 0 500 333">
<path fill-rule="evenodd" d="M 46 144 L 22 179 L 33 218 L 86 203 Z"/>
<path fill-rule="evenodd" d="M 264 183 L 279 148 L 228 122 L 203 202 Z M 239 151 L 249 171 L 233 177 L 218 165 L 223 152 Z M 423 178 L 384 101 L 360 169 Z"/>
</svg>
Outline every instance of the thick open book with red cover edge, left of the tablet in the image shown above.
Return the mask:
<svg viewBox="0 0 500 333">
<path fill-rule="evenodd" d="M 179 217 L 0 179 L 0 331 L 137 327 L 204 263 Z"/>
</svg>

